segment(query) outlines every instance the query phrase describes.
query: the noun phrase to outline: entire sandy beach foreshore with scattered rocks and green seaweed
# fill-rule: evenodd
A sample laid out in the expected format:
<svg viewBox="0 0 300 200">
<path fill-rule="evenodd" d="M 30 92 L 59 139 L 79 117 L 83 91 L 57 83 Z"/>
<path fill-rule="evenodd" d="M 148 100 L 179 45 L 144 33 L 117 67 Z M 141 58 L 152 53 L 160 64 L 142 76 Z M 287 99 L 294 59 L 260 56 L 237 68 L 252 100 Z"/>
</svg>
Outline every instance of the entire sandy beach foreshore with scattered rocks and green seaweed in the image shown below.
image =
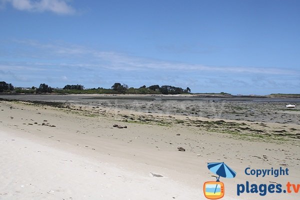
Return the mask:
<svg viewBox="0 0 300 200">
<path fill-rule="evenodd" d="M 207 107 L 137 96 L 111 106 L 113 97 L 97 97 L 0 101 L 0 199 L 205 199 L 203 183 L 215 180 L 207 162 L 236 171 L 220 179 L 223 199 L 299 198 L 236 195 L 245 181 L 300 184 L 299 111 L 285 101 L 209 99 Z M 289 175 L 245 175 L 246 167 Z"/>
</svg>

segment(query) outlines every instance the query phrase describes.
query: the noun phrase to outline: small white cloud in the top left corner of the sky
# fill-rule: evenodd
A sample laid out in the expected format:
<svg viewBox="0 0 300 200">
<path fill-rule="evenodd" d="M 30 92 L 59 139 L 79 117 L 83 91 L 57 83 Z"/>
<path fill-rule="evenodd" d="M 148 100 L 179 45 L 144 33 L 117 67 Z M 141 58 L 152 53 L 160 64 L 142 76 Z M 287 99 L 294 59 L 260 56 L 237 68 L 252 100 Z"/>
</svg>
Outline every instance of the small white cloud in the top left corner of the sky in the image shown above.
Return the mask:
<svg viewBox="0 0 300 200">
<path fill-rule="evenodd" d="M 44 12 L 56 14 L 74 14 L 76 10 L 67 3 L 67 0 L 0 0 L 2 6 L 6 3 L 18 10 Z"/>
</svg>

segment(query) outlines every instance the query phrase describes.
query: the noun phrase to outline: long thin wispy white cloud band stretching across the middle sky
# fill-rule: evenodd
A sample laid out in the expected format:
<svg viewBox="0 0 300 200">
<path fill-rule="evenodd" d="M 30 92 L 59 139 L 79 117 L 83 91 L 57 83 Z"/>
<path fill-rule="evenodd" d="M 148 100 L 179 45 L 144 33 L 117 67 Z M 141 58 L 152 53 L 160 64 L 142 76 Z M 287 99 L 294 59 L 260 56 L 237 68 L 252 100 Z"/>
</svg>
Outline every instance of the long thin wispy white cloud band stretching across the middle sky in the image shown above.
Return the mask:
<svg viewBox="0 0 300 200">
<path fill-rule="evenodd" d="M 42 56 L 71 58 L 74 61 L 55 63 L 61 66 L 77 66 L 90 68 L 107 68 L 112 70 L 188 70 L 217 73 L 242 73 L 263 75 L 294 75 L 300 72 L 295 69 L 276 67 L 253 66 L 213 66 L 203 64 L 190 64 L 169 60 L 139 57 L 114 51 L 101 51 L 81 45 L 68 44 L 61 41 L 52 43 L 40 43 L 36 40 L 14 40 L 28 49 L 35 48 Z M 46 52 L 43 54 L 43 52 Z M 28 55 L 30 56 L 30 55 Z M 36 55 L 34 55 L 36 56 Z M 41 63 L 40 63 L 41 64 Z"/>
</svg>

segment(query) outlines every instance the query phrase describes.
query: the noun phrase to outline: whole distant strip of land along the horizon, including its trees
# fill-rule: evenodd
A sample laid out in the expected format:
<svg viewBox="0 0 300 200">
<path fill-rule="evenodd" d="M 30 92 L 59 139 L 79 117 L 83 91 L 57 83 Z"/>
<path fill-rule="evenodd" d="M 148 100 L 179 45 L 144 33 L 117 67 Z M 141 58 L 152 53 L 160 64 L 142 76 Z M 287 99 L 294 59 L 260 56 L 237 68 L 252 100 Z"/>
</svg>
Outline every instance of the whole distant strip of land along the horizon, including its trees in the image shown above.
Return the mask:
<svg viewBox="0 0 300 200">
<path fill-rule="evenodd" d="M 115 82 L 111 88 L 84 88 L 81 84 L 67 84 L 62 88 L 51 87 L 45 83 L 40 83 L 38 87 L 14 87 L 11 83 L 0 81 L 0 93 L 10 94 L 194 94 L 202 96 L 224 96 L 224 97 L 300 97 L 300 94 L 286 94 L 286 93 L 271 93 L 268 95 L 232 95 L 227 92 L 206 92 L 206 93 L 192 93 L 189 87 L 185 89 L 172 85 L 158 84 L 146 86 L 142 85 L 138 88 L 128 87 L 127 84 Z"/>
</svg>

